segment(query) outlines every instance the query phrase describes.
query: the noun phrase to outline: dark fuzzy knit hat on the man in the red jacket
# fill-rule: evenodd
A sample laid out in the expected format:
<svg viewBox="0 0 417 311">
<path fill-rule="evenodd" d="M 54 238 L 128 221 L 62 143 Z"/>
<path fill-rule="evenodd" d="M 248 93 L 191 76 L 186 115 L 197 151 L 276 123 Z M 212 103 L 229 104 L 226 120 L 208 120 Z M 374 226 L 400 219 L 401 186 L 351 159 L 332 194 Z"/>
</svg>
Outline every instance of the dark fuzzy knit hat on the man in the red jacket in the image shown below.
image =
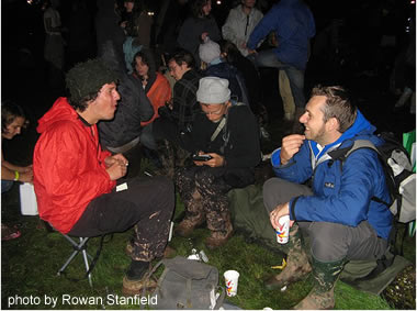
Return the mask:
<svg viewBox="0 0 417 311">
<path fill-rule="evenodd" d="M 79 63 L 66 75 L 66 84 L 70 93 L 68 101 L 74 109 L 82 112 L 87 109 L 88 102 L 98 97 L 104 85 L 117 81 L 117 74 L 100 58 Z"/>
</svg>

